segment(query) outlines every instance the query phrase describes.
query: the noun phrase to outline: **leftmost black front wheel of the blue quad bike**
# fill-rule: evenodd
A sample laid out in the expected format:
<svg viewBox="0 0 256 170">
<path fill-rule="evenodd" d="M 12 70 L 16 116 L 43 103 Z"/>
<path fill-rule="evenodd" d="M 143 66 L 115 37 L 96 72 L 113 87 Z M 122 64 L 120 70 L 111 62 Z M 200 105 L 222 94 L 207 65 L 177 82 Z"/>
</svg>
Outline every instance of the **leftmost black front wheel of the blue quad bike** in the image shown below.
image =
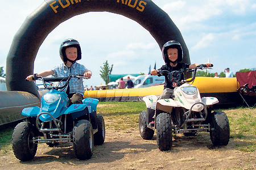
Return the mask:
<svg viewBox="0 0 256 170">
<path fill-rule="evenodd" d="M 13 130 L 11 144 L 16 158 L 21 161 L 32 160 L 35 157 L 38 144 L 33 142 L 36 137 L 35 127 L 30 122 L 20 122 Z"/>
</svg>

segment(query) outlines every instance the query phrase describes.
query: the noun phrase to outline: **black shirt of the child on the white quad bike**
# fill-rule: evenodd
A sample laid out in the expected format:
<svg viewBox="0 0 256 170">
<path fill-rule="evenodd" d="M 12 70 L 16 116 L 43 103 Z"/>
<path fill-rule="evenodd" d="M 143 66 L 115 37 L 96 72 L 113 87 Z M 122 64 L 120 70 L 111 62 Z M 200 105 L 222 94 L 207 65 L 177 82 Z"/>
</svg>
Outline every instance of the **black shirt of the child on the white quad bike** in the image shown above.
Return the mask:
<svg viewBox="0 0 256 170">
<path fill-rule="evenodd" d="M 187 63 L 184 63 L 184 62 L 178 62 L 177 63 L 177 66 L 175 67 L 172 67 L 170 64 L 166 64 L 166 65 L 163 65 L 160 69 L 158 70 L 168 70 L 170 72 L 172 71 L 177 71 L 177 70 L 180 70 L 180 69 L 183 69 L 183 65 L 188 68 L 189 67 L 189 64 Z M 159 75 L 160 76 L 160 75 Z M 169 80 L 168 76 L 167 75 L 164 75 L 165 79 L 166 79 L 166 82 L 164 83 L 164 88 L 171 88 L 171 89 L 174 89 L 177 84 L 173 81 L 173 80 Z M 184 79 L 183 75 L 181 76 L 181 79 Z"/>
</svg>

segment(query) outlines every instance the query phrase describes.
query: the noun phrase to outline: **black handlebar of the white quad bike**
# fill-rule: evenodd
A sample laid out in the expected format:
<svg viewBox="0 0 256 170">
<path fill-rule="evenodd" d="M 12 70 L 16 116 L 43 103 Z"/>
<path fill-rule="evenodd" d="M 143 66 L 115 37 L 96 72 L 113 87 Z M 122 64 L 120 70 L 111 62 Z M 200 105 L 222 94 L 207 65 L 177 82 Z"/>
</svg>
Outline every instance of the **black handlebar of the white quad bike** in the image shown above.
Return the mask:
<svg viewBox="0 0 256 170">
<path fill-rule="evenodd" d="M 213 64 L 210 65 L 210 67 L 213 67 Z M 177 84 L 184 84 L 184 83 L 190 83 L 192 82 L 193 80 L 195 80 L 196 78 L 196 70 L 197 69 L 206 69 L 208 68 L 207 65 L 205 64 L 201 64 L 199 66 L 196 66 L 194 69 L 180 69 L 180 70 L 177 70 L 177 71 L 168 71 L 168 70 L 158 70 L 158 75 L 170 75 L 170 79 L 171 80 L 174 80 L 175 83 Z M 187 72 L 193 72 L 193 76 L 190 80 L 181 80 L 181 74 L 184 75 L 184 78 L 185 78 L 185 75 L 187 74 Z"/>
</svg>

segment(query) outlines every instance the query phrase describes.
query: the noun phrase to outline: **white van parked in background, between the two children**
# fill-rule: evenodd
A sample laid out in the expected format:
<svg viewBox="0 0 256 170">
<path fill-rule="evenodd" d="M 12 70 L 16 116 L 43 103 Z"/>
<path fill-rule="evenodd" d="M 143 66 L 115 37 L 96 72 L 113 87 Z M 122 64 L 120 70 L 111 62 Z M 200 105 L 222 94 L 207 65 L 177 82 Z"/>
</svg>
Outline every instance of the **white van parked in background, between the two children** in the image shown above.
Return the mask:
<svg viewBox="0 0 256 170">
<path fill-rule="evenodd" d="M 139 75 L 133 80 L 134 88 L 143 88 L 164 83 L 164 76 Z"/>
</svg>

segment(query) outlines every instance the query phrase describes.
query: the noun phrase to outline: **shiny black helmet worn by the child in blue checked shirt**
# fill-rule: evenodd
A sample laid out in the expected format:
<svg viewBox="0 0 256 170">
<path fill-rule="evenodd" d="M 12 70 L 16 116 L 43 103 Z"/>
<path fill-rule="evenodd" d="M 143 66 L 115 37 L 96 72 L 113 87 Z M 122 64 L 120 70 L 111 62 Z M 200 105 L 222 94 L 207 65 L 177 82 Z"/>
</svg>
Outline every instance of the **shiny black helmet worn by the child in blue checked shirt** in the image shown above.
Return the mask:
<svg viewBox="0 0 256 170">
<path fill-rule="evenodd" d="M 80 44 L 77 40 L 74 39 L 67 39 L 63 41 L 60 45 L 60 58 L 64 63 L 68 61 L 68 58 L 66 56 L 65 50 L 67 47 L 76 47 L 77 48 L 77 58 L 76 60 L 79 60 L 82 58 L 82 52 L 81 52 L 81 47 Z M 75 61 L 73 61 L 75 62 Z"/>
</svg>

